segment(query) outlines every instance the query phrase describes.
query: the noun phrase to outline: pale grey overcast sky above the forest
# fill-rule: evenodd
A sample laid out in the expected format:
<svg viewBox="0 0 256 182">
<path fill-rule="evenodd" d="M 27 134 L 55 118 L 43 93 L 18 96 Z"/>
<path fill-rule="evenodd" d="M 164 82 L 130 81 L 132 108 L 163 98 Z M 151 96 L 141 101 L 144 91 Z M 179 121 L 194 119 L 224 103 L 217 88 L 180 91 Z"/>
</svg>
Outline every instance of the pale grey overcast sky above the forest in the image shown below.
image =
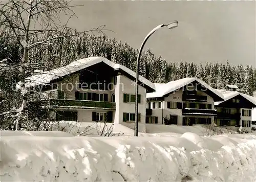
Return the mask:
<svg viewBox="0 0 256 182">
<path fill-rule="evenodd" d="M 138 49 L 159 24 L 179 27 L 155 32 L 145 44 L 167 61 L 226 62 L 256 65 L 255 2 L 74 1 L 78 30 L 105 25 L 109 37 Z"/>
</svg>

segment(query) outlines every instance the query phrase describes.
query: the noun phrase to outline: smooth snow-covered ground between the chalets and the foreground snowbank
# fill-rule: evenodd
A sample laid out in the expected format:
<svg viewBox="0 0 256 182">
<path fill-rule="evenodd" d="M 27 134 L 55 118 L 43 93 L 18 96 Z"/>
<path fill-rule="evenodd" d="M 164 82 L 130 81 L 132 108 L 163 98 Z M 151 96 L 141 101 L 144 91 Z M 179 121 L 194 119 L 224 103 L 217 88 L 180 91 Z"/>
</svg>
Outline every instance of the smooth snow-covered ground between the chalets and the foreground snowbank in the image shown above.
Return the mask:
<svg viewBox="0 0 256 182">
<path fill-rule="evenodd" d="M 112 126 L 113 125 L 113 126 Z M 82 133 L 82 136 L 88 137 L 97 137 L 100 135 L 103 130 L 103 123 L 86 123 L 86 122 L 74 122 L 74 121 L 62 121 L 56 123 L 53 127 L 53 130 L 66 131 L 73 136 L 77 136 Z M 226 128 L 214 127 L 210 125 L 193 125 L 193 126 L 178 126 L 178 125 L 156 125 L 156 124 L 141 124 L 139 123 L 140 128 L 145 128 L 145 132 L 139 132 L 140 137 L 148 136 L 169 136 L 169 135 L 181 135 L 185 132 L 193 132 L 200 136 L 220 134 L 220 133 L 229 133 L 230 130 Z M 106 123 L 105 131 L 110 131 L 113 129 L 113 134 L 115 135 L 124 135 L 124 136 L 133 136 L 134 130 L 128 128 L 122 124 L 117 123 Z M 214 129 L 216 132 L 213 132 L 210 129 Z M 221 130 L 221 131 L 220 131 Z M 85 132 L 84 132 L 85 131 Z M 156 134 L 157 133 L 157 134 Z M 234 133 L 232 131 L 231 133 Z"/>
</svg>

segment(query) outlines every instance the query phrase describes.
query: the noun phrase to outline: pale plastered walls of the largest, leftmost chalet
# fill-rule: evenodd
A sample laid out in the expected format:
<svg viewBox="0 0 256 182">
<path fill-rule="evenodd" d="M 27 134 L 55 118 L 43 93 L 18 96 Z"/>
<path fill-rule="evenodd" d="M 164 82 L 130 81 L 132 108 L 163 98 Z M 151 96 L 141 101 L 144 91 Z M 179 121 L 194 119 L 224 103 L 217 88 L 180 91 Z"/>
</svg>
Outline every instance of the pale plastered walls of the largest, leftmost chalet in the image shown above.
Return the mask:
<svg viewBox="0 0 256 182">
<path fill-rule="evenodd" d="M 90 89 L 81 89 L 76 86 L 76 83 L 79 81 L 79 76 L 73 75 L 72 77 L 65 79 L 62 82 L 58 82 L 57 85 L 61 85 L 62 90 L 65 90 L 66 99 L 75 100 L 75 92 L 90 92 L 90 93 L 102 93 L 108 94 L 108 102 L 111 102 L 112 94 L 115 94 L 116 102 L 116 111 L 113 112 L 113 122 L 114 123 L 124 123 L 123 122 L 123 112 L 135 113 L 135 103 L 124 103 L 123 94 L 135 94 L 135 84 L 133 80 L 125 77 L 124 75 L 117 76 L 117 84 L 114 85 L 112 90 L 90 90 Z M 112 79 L 112 82 L 114 80 Z M 70 84 L 72 83 L 74 87 Z M 145 108 L 146 108 L 146 89 L 139 85 L 139 94 L 141 95 L 141 103 L 139 103 L 139 113 L 140 113 L 140 123 L 145 124 Z M 57 94 L 55 96 L 57 99 Z M 78 121 L 82 122 L 92 122 L 92 110 L 86 109 L 76 109 L 78 111 Z M 95 110 L 99 111 L 99 110 Z M 133 122 L 134 123 L 134 122 Z M 133 125 L 133 124 L 127 124 Z"/>
</svg>

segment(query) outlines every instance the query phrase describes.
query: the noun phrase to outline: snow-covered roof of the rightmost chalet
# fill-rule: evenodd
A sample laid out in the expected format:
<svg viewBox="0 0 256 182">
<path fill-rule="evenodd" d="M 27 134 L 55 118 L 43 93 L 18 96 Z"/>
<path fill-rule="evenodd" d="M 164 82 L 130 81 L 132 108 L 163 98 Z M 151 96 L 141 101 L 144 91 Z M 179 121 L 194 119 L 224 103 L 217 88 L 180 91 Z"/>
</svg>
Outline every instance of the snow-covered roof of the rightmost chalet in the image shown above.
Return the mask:
<svg viewBox="0 0 256 182">
<path fill-rule="evenodd" d="M 221 102 L 214 102 L 214 105 L 219 105 L 221 104 L 222 102 L 225 102 L 229 99 L 232 99 L 233 97 L 236 97 L 238 95 L 244 97 L 245 99 L 247 99 L 248 101 L 250 101 L 251 103 L 253 103 L 254 105 L 256 105 L 256 98 L 255 97 L 252 97 L 252 96 L 249 96 L 247 94 L 243 94 L 243 93 L 240 93 L 240 92 L 237 92 L 237 91 L 226 91 L 226 90 L 223 90 L 223 89 L 216 89 L 218 92 L 222 93 L 223 96 L 224 96 L 224 101 L 221 101 Z"/>
</svg>

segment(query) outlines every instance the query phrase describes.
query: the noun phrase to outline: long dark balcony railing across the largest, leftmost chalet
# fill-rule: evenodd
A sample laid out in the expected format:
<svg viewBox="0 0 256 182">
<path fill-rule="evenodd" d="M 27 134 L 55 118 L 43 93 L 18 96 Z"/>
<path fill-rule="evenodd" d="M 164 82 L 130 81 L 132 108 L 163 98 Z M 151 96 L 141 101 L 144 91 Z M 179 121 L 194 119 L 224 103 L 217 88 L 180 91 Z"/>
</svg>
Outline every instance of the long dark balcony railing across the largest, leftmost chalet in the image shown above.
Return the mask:
<svg viewBox="0 0 256 182">
<path fill-rule="evenodd" d="M 115 109 L 115 102 L 100 102 L 100 101 L 86 101 L 86 100 L 44 100 L 41 102 L 42 105 L 49 106 L 69 106 L 69 107 L 92 107 L 92 108 L 109 108 Z"/>
</svg>

